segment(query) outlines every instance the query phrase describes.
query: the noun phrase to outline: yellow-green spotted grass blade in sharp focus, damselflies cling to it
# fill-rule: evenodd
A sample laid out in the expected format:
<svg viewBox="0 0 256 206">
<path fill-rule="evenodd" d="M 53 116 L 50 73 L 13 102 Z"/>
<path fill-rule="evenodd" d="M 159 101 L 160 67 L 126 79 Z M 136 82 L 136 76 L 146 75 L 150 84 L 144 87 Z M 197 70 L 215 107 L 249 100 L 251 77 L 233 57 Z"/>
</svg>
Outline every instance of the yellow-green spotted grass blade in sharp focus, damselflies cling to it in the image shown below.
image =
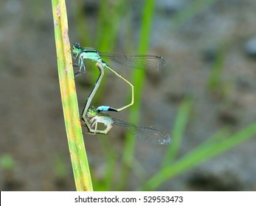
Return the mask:
<svg viewBox="0 0 256 206">
<path fill-rule="evenodd" d="M 69 152 L 77 191 L 92 191 L 91 174 L 83 143 L 70 52 L 68 21 L 64 0 L 52 0 L 58 75 Z"/>
</svg>

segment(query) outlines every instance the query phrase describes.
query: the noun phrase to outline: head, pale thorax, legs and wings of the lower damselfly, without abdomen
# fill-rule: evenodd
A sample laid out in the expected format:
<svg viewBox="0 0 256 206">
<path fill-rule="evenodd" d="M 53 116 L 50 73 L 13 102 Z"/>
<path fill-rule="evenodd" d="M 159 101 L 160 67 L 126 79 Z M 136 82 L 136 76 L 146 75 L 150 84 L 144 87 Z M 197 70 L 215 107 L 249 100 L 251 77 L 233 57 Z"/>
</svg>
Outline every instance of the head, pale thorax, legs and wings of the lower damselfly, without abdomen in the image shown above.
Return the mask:
<svg viewBox="0 0 256 206">
<path fill-rule="evenodd" d="M 153 129 L 152 127 L 131 124 L 119 118 L 113 118 L 108 113 L 100 113 L 97 109 L 94 109 L 94 107 L 89 107 L 89 110 L 86 113 L 86 118 L 89 118 L 91 127 L 88 127 L 88 129 L 92 134 L 98 133 L 107 135 L 111 130 L 112 125 L 115 124 L 123 127 L 127 132 L 130 132 L 131 135 L 134 135 L 134 137 L 142 141 L 156 144 L 169 144 L 171 142 L 170 135 L 165 132 L 158 129 Z M 105 129 L 97 129 L 99 123 L 104 124 Z"/>
</svg>

